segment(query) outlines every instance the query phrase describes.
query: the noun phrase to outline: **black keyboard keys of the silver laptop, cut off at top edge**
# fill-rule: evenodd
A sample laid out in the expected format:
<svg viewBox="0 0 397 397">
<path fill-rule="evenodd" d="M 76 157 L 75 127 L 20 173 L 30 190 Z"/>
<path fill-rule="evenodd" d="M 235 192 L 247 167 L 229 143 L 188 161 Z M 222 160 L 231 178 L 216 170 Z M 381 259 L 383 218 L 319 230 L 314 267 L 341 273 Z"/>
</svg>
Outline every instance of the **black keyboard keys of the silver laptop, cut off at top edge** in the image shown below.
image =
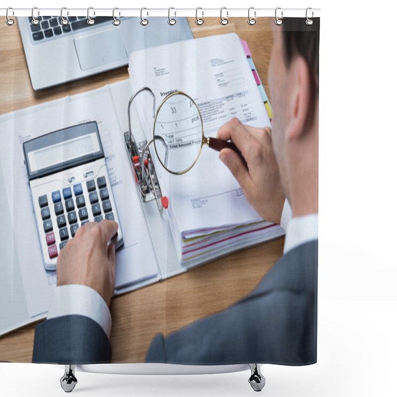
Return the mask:
<svg viewBox="0 0 397 397">
<path fill-rule="evenodd" d="M 88 25 L 86 16 L 69 16 L 67 19 L 69 23 L 63 25 L 60 16 L 38 16 L 40 21 L 37 25 L 33 25 L 29 19 L 30 30 L 33 41 L 41 41 L 52 39 L 56 37 L 63 37 L 70 32 L 75 32 L 81 29 L 96 26 L 100 23 L 112 21 L 112 16 L 97 16 L 93 25 Z"/>
</svg>

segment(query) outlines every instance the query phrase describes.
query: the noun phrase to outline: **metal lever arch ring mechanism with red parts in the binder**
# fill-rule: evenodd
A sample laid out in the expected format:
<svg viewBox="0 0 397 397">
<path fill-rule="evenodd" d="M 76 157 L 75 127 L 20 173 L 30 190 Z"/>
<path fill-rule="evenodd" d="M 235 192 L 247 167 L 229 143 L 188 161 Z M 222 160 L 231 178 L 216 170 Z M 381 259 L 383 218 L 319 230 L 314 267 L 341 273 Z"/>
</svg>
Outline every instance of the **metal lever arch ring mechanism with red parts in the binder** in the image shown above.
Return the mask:
<svg viewBox="0 0 397 397">
<path fill-rule="evenodd" d="M 131 126 L 131 105 L 132 101 L 135 97 L 143 92 L 148 91 L 153 98 L 153 119 L 156 113 L 156 98 L 153 94 L 153 91 L 148 87 L 142 87 L 137 90 L 128 103 L 128 127 L 129 132 L 124 133 L 124 139 L 126 141 L 127 149 L 132 162 L 132 171 L 134 174 L 134 179 L 136 182 L 136 186 L 140 195 L 140 198 L 143 202 L 148 202 L 151 200 L 156 200 L 157 207 L 160 213 L 163 212 L 162 205 L 162 194 L 161 189 L 158 183 L 156 170 L 154 169 L 152 157 L 148 150 L 150 143 L 152 143 L 153 139 L 149 142 L 147 140 L 142 140 L 139 144 L 136 143 L 135 138 L 132 133 Z"/>
</svg>

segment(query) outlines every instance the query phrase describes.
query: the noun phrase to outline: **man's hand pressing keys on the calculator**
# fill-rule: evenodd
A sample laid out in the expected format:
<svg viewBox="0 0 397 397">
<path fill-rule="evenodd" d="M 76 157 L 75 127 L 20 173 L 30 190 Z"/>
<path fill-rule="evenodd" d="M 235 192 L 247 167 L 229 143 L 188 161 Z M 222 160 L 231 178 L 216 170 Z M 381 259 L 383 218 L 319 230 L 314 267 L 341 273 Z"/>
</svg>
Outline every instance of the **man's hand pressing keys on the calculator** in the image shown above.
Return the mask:
<svg viewBox="0 0 397 397">
<path fill-rule="evenodd" d="M 107 219 L 79 227 L 58 257 L 57 285 L 87 285 L 109 306 L 115 285 L 116 253 L 115 245 L 108 245 L 108 241 L 118 228 L 116 222 Z"/>
</svg>

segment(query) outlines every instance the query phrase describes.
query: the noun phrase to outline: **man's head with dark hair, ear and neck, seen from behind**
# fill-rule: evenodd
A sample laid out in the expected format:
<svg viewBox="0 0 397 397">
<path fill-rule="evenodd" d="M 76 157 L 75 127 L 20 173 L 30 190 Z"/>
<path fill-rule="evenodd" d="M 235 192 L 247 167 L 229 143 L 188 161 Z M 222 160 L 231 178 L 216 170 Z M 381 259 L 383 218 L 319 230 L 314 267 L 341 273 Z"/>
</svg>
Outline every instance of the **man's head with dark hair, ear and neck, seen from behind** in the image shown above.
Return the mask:
<svg viewBox="0 0 397 397">
<path fill-rule="evenodd" d="M 294 216 L 317 211 L 319 18 L 273 21 L 268 71 L 272 142 Z"/>
</svg>

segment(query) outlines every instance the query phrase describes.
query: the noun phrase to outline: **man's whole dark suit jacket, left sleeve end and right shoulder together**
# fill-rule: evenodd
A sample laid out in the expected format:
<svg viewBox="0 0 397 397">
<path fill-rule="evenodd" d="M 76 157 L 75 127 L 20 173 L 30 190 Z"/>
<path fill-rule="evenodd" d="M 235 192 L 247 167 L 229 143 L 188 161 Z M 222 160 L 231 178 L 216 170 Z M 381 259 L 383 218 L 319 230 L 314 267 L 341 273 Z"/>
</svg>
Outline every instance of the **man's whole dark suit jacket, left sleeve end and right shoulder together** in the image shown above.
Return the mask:
<svg viewBox="0 0 397 397">
<path fill-rule="evenodd" d="M 156 335 L 146 362 L 174 364 L 317 361 L 318 241 L 281 257 L 246 298 L 166 338 Z M 33 362 L 104 363 L 110 342 L 102 328 L 83 316 L 50 319 L 36 327 Z"/>
</svg>

